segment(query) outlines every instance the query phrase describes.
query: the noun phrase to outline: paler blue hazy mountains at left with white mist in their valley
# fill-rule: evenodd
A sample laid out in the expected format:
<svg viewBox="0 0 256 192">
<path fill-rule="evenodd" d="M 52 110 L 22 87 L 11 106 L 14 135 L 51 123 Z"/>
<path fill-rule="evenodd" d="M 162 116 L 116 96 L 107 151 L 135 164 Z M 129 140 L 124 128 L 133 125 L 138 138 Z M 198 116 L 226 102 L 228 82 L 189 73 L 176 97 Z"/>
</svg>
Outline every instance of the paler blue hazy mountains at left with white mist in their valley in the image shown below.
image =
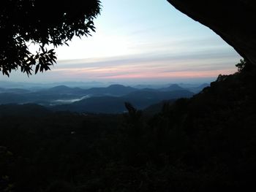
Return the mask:
<svg viewBox="0 0 256 192">
<path fill-rule="evenodd" d="M 59 85 L 39 91 L 28 91 L 20 88 L 1 89 L 0 104 L 9 103 L 37 103 L 37 104 L 60 104 L 78 101 L 89 96 L 123 96 L 135 91 L 135 88 L 123 85 L 110 85 L 108 88 L 69 88 Z"/>
</svg>

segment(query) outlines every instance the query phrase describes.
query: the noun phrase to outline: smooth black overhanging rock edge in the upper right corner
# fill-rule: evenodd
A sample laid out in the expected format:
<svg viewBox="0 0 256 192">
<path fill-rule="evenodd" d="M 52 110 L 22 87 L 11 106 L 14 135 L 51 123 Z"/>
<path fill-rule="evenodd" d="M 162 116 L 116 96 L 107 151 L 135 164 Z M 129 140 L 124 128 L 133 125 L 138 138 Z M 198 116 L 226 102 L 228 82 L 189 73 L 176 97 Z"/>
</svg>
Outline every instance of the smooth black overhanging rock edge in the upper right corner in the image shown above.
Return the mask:
<svg viewBox="0 0 256 192">
<path fill-rule="evenodd" d="M 211 28 L 256 65 L 255 0 L 167 0 L 190 18 Z"/>
</svg>

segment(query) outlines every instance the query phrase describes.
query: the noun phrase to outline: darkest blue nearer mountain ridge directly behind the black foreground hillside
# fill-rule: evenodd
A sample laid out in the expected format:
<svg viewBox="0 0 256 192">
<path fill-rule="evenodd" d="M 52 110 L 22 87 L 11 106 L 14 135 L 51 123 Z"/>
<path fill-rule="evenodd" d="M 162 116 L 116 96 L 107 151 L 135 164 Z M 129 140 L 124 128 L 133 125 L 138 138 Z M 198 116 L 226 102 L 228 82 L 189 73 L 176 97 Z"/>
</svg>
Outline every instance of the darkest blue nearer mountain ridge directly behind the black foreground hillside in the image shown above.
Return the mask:
<svg viewBox="0 0 256 192">
<path fill-rule="evenodd" d="M 94 96 L 89 99 L 76 101 L 72 104 L 58 105 L 53 110 L 69 110 L 73 112 L 120 113 L 124 112 L 124 102 L 132 103 L 138 109 L 144 109 L 162 100 L 191 97 L 189 91 L 135 91 L 126 96 Z"/>
</svg>

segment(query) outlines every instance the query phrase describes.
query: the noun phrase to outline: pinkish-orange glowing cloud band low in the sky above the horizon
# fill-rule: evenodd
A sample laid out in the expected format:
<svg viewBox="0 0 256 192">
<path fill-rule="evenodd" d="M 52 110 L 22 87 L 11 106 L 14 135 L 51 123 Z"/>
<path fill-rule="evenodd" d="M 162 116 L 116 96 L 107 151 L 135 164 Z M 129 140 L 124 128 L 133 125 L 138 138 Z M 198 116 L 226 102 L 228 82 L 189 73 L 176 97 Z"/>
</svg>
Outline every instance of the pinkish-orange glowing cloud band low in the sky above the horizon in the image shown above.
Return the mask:
<svg viewBox="0 0 256 192">
<path fill-rule="evenodd" d="M 170 65 L 169 65 L 170 66 Z M 171 67 L 170 67 L 171 68 Z M 189 70 L 182 67 L 176 69 L 168 69 L 166 66 L 143 67 L 137 66 L 93 66 L 82 68 L 55 69 L 66 77 L 88 77 L 96 80 L 124 80 L 124 79 L 168 79 L 168 78 L 201 78 L 201 77 L 217 77 L 219 74 L 232 74 L 235 69 L 200 69 Z"/>
</svg>

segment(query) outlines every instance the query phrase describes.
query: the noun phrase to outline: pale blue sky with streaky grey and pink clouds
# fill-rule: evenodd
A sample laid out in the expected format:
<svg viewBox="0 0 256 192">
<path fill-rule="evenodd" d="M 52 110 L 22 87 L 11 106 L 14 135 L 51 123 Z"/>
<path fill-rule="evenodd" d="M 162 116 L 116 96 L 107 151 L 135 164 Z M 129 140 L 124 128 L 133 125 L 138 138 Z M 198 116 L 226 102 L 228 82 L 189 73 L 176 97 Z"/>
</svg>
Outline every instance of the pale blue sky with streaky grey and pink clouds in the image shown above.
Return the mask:
<svg viewBox="0 0 256 192">
<path fill-rule="evenodd" d="M 241 58 L 206 26 L 166 0 L 102 0 L 96 33 L 56 49 L 49 72 L 27 77 L 12 72 L 0 80 L 19 82 L 211 82 L 236 72 Z M 33 50 L 33 47 L 30 47 Z"/>
</svg>

